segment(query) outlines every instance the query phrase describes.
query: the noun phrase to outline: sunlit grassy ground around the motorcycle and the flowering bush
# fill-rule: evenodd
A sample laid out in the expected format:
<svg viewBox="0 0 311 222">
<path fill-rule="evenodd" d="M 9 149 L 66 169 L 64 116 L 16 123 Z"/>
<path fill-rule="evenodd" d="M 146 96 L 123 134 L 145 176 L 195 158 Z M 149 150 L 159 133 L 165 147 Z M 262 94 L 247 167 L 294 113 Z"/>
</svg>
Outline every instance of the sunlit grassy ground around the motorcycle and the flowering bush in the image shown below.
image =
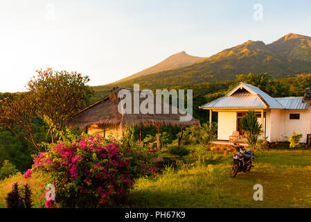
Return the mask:
<svg viewBox="0 0 311 222">
<path fill-rule="evenodd" d="M 251 172 L 238 173 L 236 178 L 229 176 L 232 154 L 208 151 L 201 161 L 194 161 L 197 157 L 190 154 L 184 157 L 188 176 L 181 164 L 166 167 L 156 178 L 141 178 L 130 192 L 126 206 L 311 207 L 311 151 L 257 152 Z M 44 204 L 44 187 L 40 186 L 44 180 L 35 177 L 25 180 L 17 175 L 0 182 L 0 207 L 6 207 L 6 194 L 17 181 L 30 184 L 35 207 Z M 263 185 L 263 201 L 253 199 L 256 184 Z"/>
</svg>

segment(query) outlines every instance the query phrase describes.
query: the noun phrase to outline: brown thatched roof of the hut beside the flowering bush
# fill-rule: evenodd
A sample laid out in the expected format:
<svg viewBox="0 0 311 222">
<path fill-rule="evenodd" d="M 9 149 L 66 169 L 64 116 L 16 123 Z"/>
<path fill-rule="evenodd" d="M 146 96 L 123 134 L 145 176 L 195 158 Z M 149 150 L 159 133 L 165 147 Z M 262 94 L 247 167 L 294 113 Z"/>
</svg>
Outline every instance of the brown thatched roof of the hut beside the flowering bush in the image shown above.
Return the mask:
<svg viewBox="0 0 311 222">
<path fill-rule="evenodd" d="M 134 114 L 134 90 L 139 92 L 139 95 L 143 92 L 149 94 L 146 90 L 129 89 L 132 94 L 132 114 L 127 114 L 123 107 L 122 112 L 118 112 L 118 103 L 121 99 L 118 98 L 118 92 L 121 89 L 128 89 L 123 87 L 114 87 L 109 96 L 89 105 L 89 107 L 80 110 L 77 114 L 73 115 L 69 121 L 67 121 L 67 127 L 79 127 L 86 128 L 87 126 L 105 125 L 105 126 L 191 126 L 198 125 L 199 120 L 194 117 L 190 117 L 190 121 L 180 121 L 180 117 L 186 117 L 186 114 L 181 114 L 181 110 L 177 109 L 177 114 L 172 113 L 172 105 L 169 106 L 169 113 L 163 114 L 163 103 L 161 114 L 156 113 L 156 105 L 159 103 L 154 95 L 154 114 Z M 139 96 L 140 97 L 140 96 Z M 145 98 L 139 99 L 139 104 L 144 101 Z M 161 102 L 161 101 L 160 101 Z M 162 99 L 163 102 L 163 99 Z M 148 106 L 147 106 L 148 108 Z M 175 108 L 175 107 L 174 107 Z"/>
</svg>

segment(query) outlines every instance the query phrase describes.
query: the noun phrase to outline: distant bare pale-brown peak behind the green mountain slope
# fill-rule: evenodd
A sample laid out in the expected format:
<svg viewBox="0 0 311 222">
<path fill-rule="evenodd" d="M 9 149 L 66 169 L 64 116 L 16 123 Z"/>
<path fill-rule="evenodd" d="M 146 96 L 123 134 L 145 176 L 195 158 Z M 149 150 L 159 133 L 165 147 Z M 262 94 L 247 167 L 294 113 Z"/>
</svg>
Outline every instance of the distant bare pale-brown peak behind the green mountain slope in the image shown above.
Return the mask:
<svg viewBox="0 0 311 222">
<path fill-rule="evenodd" d="M 162 62 L 159 62 L 157 65 L 149 67 L 148 69 L 144 69 L 143 71 L 140 71 L 139 73 L 133 74 L 132 76 L 128 76 L 114 83 L 126 82 L 127 80 L 131 80 L 131 79 L 138 78 L 141 76 L 147 76 L 149 74 L 154 74 L 159 71 L 187 67 L 188 65 L 193 65 L 195 62 L 199 62 L 201 60 L 204 60 L 204 58 L 197 57 L 197 56 L 190 56 L 185 51 L 181 51 L 180 53 L 176 53 L 166 58 Z"/>
</svg>

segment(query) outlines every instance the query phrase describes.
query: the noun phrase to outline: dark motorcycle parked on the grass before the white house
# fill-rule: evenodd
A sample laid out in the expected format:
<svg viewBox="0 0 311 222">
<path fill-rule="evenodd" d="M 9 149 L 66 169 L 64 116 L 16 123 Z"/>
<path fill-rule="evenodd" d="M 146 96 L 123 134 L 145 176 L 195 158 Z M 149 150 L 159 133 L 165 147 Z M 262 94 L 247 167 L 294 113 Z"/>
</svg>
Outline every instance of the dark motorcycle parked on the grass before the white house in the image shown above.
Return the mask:
<svg viewBox="0 0 311 222">
<path fill-rule="evenodd" d="M 233 167 L 231 169 L 230 177 L 235 178 L 238 172 L 249 173 L 251 167 L 254 167 L 252 163 L 254 162 L 254 151 L 247 151 L 243 146 L 239 144 L 234 144 L 234 148 L 238 153 L 233 155 Z"/>
</svg>

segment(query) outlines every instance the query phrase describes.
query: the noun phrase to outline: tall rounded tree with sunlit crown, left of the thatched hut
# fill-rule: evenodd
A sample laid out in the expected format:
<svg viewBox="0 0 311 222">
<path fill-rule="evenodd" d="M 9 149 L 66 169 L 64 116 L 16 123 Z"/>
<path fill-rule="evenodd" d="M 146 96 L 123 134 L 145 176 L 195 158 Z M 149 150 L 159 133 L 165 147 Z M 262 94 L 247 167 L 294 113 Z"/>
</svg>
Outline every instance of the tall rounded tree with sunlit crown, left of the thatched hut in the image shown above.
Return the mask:
<svg viewBox="0 0 311 222">
<path fill-rule="evenodd" d="M 89 103 L 93 90 L 87 85 L 89 76 L 76 71 L 47 68 L 37 70 L 37 74 L 27 86 L 35 99 L 36 114 L 48 123 L 48 134 L 54 142 L 55 130 L 63 130 L 66 120 Z"/>
</svg>

